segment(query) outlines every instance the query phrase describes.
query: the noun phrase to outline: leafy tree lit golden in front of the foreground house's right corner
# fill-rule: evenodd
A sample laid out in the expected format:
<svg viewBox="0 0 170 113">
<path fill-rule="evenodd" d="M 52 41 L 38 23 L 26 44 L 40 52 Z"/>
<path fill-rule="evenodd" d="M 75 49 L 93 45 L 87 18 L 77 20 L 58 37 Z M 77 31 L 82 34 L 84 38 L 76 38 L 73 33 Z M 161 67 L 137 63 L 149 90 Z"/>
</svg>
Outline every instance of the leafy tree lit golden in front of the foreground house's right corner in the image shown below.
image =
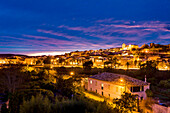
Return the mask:
<svg viewBox="0 0 170 113">
<path fill-rule="evenodd" d="M 137 110 L 138 96 L 131 93 L 124 93 L 121 99 L 113 99 L 113 104 L 116 104 L 115 110 L 118 113 L 128 113 Z"/>
</svg>

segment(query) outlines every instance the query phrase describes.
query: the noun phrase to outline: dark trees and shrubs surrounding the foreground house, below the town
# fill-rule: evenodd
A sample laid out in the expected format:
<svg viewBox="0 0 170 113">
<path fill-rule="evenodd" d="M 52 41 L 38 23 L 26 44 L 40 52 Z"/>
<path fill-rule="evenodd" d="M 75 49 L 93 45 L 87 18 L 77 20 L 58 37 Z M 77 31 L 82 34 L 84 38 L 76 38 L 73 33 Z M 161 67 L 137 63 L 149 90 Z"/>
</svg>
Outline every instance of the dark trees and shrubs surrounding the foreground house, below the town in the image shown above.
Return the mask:
<svg viewBox="0 0 170 113">
<path fill-rule="evenodd" d="M 92 68 L 93 63 L 87 62 L 84 68 L 33 68 L 29 66 L 11 66 L 0 70 L 0 92 L 5 94 L 6 101 L 9 100 L 9 108 L 3 105 L 3 111 L 9 113 L 37 112 L 29 111 L 39 106 L 37 110 L 48 103 L 48 108 L 41 110 L 49 112 L 124 112 L 136 109 L 135 98 L 126 94 L 122 99 L 114 100 L 116 108 L 112 109 L 105 102 L 96 102 L 84 98 L 80 91 L 80 80 L 99 72 L 113 72 L 126 74 L 141 80 L 147 75 L 147 81 L 151 83 L 151 90 L 146 93 L 149 97 L 158 96 L 164 100 L 170 100 L 170 76 L 169 72 L 158 71 L 154 62 L 148 62 L 141 66 L 141 70 L 119 70 Z M 151 69 L 153 68 L 153 69 Z M 74 75 L 69 76 L 73 71 Z M 149 72 L 147 72 L 149 71 Z M 68 75 L 68 78 L 64 78 Z M 80 96 L 81 95 L 81 96 Z M 130 99 L 128 100 L 127 99 Z M 39 102 L 39 103 L 38 103 Z M 34 104 L 33 104 L 34 103 Z M 122 104 L 123 103 L 123 104 Z M 22 107 L 22 108 L 21 108 Z M 127 108 L 126 108 L 127 107 Z M 76 109 L 79 108 L 79 109 Z M 120 109 L 118 109 L 120 108 Z M 126 109 L 124 109 L 126 108 Z"/>
</svg>

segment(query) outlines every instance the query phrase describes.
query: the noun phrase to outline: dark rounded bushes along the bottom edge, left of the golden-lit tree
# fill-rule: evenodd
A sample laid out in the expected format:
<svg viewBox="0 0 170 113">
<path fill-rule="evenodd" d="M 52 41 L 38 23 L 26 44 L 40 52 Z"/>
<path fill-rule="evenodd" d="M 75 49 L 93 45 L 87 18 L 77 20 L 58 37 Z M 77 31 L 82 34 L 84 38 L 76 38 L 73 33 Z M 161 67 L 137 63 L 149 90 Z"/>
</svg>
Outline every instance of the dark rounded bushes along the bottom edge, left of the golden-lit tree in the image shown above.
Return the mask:
<svg viewBox="0 0 170 113">
<path fill-rule="evenodd" d="M 56 98 L 53 102 L 43 95 L 33 96 L 24 100 L 20 113 L 115 113 L 105 102 L 96 102 L 82 97 L 75 99 Z"/>
</svg>

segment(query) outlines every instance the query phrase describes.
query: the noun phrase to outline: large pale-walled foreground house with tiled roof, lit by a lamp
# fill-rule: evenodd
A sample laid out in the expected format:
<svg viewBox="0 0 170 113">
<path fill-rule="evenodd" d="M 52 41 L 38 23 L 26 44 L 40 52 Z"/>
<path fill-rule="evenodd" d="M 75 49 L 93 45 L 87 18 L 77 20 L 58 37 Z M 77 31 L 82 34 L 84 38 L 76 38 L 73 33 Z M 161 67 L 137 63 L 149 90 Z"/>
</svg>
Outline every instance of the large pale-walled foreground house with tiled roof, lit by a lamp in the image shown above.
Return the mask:
<svg viewBox="0 0 170 113">
<path fill-rule="evenodd" d="M 123 92 L 137 94 L 140 99 L 146 99 L 148 82 L 138 80 L 127 75 L 115 73 L 101 73 L 88 78 L 88 90 L 96 92 L 106 98 L 121 98 Z"/>
</svg>

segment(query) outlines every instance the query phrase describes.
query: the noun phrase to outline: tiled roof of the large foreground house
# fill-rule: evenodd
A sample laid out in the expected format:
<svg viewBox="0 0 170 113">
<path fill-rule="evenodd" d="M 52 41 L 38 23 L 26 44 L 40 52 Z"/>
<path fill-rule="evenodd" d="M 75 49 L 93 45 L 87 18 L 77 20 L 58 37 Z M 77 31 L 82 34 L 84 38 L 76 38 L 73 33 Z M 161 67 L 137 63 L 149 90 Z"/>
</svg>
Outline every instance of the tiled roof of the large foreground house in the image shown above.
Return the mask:
<svg viewBox="0 0 170 113">
<path fill-rule="evenodd" d="M 142 80 L 136 79 L 136 78 L 132 78 L 129 77 L 127 75 L 121 75 L 121 74 L 116 74 L 116 73 L 108 73 L 108 72 L 104 72 L 104 73 L 100 73 L 100 74 L 96 74 L 93 75 L 89 78 L 93 78 L 93 79 L 98 79 L 98 80 L 103 80 L 103 81 L 108 81 L 108 82 L 112 82 L 112 83 L 126 83 L 127 85 L 148 85 L 148 82 L 144 82 Z M 120 80 L 123 81 L 120 81 Z"/>
</svg>

